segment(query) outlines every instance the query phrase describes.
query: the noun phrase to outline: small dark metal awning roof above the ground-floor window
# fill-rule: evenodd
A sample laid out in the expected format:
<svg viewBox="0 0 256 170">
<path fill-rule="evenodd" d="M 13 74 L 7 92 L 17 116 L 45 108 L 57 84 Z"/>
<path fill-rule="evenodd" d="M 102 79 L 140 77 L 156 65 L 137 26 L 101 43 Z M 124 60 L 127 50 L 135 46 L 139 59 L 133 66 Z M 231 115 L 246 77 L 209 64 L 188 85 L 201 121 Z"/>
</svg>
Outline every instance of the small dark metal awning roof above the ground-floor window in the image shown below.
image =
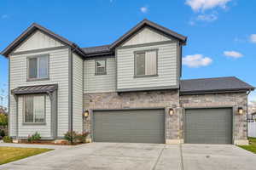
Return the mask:
<svg viewBox="0 0 256 170">
<path fill-rule="evenodd" d="M 12 94 L 42 94 L 52 93 L 58 88 L 58 84 L 47 84 L 37 86 L 23 86 L 12 90 Z"/>
</svg>

